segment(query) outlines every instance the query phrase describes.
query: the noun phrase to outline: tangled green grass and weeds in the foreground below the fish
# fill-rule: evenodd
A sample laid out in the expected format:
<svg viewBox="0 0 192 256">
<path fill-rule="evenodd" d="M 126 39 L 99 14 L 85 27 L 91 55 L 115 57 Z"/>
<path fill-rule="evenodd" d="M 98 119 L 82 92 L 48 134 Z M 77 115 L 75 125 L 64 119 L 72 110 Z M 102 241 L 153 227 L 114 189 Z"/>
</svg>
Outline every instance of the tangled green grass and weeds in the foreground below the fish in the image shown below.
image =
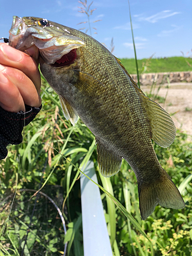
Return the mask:
<svg viewBox="0 0 192 256">
<path fill-rule="evenodd" d="M 31 255 L 34 252 L 46 255 L 45 251 L 47 255 L 60 255 L 63 243 L 69 241 L 68 256 L 82 256 L 80 182 L 77 167 L 82 169 L 83 163 L 80 165 L 80 159 L 84 158 L 84 161 L 94 161 L 95 169 L 98 170 L 94 136 L 80 120 L 73 127 L 63 118 L 60 106 L 58 109 L 58 96 L 45 80 L 41 97 L 44 106 L 35 120 L 25 127 L 23 144 L 11 146 L 8 158 L 0 163 L 0 201 L 14 192 L 18 169 L 18 188 L 37 190 L 48 157 L 49 164 L 46 165 L 41 182 L 41 186 L 45 185 L 42 191 L 57 202 L 60 209 L 63 199 L 67 198 L 63 210 L 67 235 L 63 234 L 57 214 L 53 214 L 51 206 L 46 206 L 48 202 L 43 203 L 39 198 L 36 206 L 38 211 L 35 211 L 33 217 L 33 229 L 30 229 L 25 255 L 28 255 L 27 250 Z M 55 127 L 56 124 L 61 131 Z M 186 137 L 178 132 L 174 143 L 168 148 L 154 144 L 161 165 L 175 184 L 182 186 L 182 196 L 186 202 L 184 209 L 157 206 L 153 214 L 142 221 L 137 180 L 129 164 L 123 161 L 120 172 L 109 179 L 96 172 L 114 256 L 119 256 L 119 253 L 150 256 L 153 250 L 156 256 L 172 256 L 176 252 L 178 256 L 192 255 L 192 144 L 186 142 Z M 77 167 L 71 165 L 58 152 Z M 32 198 L 29 201 L 31 196 L 32 194 L 17 194 L 9 221 L 7 216 L 12 200 L 6 200 L 3 208 L 0 206 L 0 252 L 3 251 L 0 255 L 20 255 L 35 200 Z M 6 223 L 8 225 L 3 233 Z"/>
</svg>

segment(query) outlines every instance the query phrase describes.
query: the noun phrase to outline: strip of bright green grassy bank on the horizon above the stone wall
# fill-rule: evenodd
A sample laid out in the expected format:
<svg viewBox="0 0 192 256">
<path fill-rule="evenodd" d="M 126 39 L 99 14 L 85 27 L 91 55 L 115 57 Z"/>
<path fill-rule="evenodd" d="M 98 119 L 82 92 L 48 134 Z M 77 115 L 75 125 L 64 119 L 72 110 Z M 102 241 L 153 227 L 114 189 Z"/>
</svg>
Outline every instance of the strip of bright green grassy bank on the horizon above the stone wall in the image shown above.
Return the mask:
<svg viewBox="0 0 192 256">
<path fill-rule="evenodd" d="M 130 74 L 136 74 L 135 59 L 121 59 L 125 69 Z M 192 59 L 184 57 L 152 58 L 138 60 L 139 72 L 176 72 L 192 71 Z M 145 68 L 144 68 L 145 67 Z M 144 70 L 145 69 L 145 70 Z"/>
</svg>

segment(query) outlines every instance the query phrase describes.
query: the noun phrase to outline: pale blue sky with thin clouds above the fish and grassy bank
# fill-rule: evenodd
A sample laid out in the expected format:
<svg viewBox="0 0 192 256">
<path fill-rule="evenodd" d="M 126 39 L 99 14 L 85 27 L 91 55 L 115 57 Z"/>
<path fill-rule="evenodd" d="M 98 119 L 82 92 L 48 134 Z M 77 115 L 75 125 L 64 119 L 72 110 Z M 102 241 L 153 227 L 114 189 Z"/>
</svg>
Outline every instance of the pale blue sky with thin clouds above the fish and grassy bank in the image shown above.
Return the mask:
<svg viewBox="0 0 192 256">
<path fill-rule="evenodd" d="M 88 0 L 88 4 L 91 1 Z M 130 0 L 137 57 L 181 56 L 192 48 L 192 1 L 191 0 Z M 35 16 L 80 29 L 88 27 L 87 16 L 79 13 L 82 5 L 76 0 L 0 0 L 0 38 L 9 36 L 12 16 Z M 127 0 L 95 0 L 91 9 L 97 8 L 90 17 L 93 37 L 110 48 L 114 38 L 119 58 L 133 58 L 133 44 Z M 98 34 L 94 34 L 97 32 Z M 88 32 L 89 34 L 89 32 Z"/>
</svg>

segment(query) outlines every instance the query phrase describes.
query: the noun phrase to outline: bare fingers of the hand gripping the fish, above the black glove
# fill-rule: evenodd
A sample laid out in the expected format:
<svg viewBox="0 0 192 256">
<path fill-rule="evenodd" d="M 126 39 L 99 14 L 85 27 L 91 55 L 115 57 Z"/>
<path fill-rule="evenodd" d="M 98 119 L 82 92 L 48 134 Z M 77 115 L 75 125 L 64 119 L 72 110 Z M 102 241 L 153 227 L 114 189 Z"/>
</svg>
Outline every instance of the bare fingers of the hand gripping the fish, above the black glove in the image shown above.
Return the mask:
<svg viewBox="0 0 192 256">
<path fill-rule="evenodd" d="M 34 58 L 0 44 L 0 106 L 9 112 L 25 112 L 25 104 L 41 105 L 38 54 L 33 47 L 27 51 Z"/>
</svg>

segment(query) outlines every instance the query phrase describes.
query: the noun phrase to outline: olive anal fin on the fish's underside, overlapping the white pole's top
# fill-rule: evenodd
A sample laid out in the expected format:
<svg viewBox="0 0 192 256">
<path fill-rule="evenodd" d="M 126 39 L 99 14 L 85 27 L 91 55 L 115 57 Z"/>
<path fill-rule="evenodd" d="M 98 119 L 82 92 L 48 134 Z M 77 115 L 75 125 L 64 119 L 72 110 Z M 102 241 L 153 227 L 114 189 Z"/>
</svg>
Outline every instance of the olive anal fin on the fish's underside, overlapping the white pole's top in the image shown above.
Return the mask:
<svg viewBox="0 0 192 256">
<path fill-rule="evenodd" d="M 106 148 L 100 141 L 96 140 L 96 143 L 97 162 L 102 176 L 111 177 L 117 174 L 121 167 L 122 158 Z"/>
</svg>

